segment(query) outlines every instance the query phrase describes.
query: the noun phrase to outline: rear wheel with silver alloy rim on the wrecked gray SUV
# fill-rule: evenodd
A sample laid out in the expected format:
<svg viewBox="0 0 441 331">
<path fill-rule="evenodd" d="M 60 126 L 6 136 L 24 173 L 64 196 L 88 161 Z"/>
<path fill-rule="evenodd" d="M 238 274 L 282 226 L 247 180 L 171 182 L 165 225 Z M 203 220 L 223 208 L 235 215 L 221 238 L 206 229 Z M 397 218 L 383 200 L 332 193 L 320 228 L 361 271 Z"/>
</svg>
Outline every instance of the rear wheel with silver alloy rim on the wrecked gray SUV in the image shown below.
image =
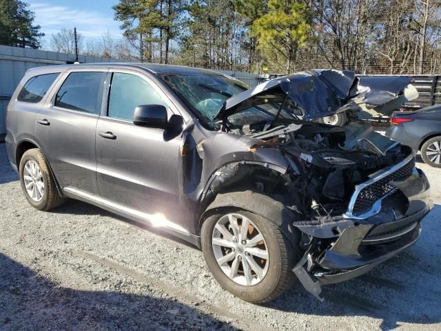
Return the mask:
<svg viewBox="0 0 441 331">
<path fill-rule="evenodd" d="M 64 202 L 48 163 L 38 148 L 32 148 L 23 154 L 19 172 L 21 189 L 32 207 L 38 210 L 51 210 Z"/>
</svg>

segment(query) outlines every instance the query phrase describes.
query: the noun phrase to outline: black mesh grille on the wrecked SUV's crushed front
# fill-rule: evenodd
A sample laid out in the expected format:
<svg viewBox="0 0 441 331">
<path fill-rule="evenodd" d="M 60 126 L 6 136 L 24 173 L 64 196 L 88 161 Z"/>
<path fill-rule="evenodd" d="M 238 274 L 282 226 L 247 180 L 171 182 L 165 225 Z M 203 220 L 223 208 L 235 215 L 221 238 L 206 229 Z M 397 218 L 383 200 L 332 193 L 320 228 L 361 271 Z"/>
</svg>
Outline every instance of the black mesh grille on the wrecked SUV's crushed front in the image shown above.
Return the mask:
<svg viewBox="0 0 441 331">
<path fill-rule="evenodd" d="M 373 181 L 373 183 L 362 188 L 353 203 L 352 214 L 359 215 L 370 210 L 373 203 L 396 190 L 396 188 L 390 184 L 391 181 L 398 181 L 409 177 L 413 172 L 413 168 L 415 168 L 414 157 L 386 177 L 382 177 L 378 179 L 378 181 Z"/>
</svg>

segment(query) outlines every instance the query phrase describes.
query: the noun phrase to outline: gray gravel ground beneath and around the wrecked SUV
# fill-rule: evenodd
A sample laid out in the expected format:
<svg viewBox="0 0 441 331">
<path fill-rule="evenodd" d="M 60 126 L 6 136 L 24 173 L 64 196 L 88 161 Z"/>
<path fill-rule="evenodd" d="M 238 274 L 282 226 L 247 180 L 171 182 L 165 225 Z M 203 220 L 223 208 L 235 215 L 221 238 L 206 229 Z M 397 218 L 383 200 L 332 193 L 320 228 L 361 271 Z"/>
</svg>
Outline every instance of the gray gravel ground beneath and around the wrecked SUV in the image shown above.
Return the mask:
<svg viewBox="0 0 441 331">
<path fill-rule="evenodd" d="M 91 205 L 39 212 L 0 144 L 0 330 L 441 330 L 441 170 L 411 248 L 358 279 L 268 305 L 216 283 L 200 251 Z"/>
</svg>

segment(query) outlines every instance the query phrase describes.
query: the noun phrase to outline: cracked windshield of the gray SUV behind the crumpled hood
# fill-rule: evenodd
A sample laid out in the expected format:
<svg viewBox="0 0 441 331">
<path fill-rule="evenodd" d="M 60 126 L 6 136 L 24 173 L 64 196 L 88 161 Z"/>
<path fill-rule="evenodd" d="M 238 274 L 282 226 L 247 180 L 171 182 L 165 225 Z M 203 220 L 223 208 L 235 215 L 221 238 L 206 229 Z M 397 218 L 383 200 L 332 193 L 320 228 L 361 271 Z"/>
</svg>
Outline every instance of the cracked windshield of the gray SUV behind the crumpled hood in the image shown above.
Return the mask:
<svg viewBox="0 0 441 331">
<path fill-rule="evenodd" d="M 161 78 L 212 129 L 224 101 L 249 88 L 221 74 L 162 74 Z"/>
</svg>

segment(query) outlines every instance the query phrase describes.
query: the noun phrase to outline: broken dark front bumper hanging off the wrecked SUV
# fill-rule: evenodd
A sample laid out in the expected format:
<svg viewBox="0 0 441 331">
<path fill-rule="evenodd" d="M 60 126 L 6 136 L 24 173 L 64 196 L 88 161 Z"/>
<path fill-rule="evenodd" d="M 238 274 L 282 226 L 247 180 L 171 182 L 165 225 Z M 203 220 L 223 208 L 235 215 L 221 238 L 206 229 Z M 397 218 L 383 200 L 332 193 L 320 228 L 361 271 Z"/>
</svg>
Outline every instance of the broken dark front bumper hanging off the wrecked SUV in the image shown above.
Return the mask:
<svg viewBox="0 0 441 331">
<path fill-rule="evenodd" d="M 298 224 L 313 240 L 293 271 L 318 299 L 322 300 L 320 285 L 365 274 L 418 240 L 421 220 L 433 208 L 429 182 L 417 170 L 394 185 L 398 190 L 382 200 L 380 212 L 373 217 Z"/>
</svg>

